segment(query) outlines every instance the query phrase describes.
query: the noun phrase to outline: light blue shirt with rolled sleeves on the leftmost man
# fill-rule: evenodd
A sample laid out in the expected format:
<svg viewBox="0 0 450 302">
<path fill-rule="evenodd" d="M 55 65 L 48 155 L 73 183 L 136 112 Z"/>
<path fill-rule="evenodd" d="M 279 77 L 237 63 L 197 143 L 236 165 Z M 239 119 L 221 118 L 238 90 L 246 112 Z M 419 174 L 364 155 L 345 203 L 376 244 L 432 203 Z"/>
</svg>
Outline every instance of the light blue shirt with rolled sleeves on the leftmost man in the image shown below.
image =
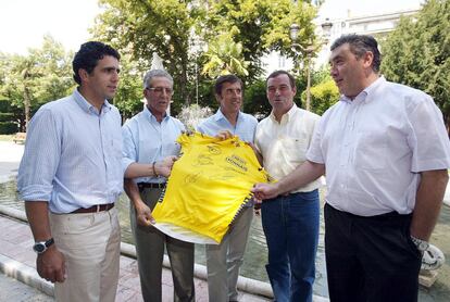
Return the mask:
<svg viewBox="0 0 450 302">
<path fill-rule="evenodd" d="M 25 201 L 48 201 L 53 213 L 114 202 L 123 190 L 121 115 L 101 111 L 75 90 L 33 116 L 18 167 Z"/>
</svg>

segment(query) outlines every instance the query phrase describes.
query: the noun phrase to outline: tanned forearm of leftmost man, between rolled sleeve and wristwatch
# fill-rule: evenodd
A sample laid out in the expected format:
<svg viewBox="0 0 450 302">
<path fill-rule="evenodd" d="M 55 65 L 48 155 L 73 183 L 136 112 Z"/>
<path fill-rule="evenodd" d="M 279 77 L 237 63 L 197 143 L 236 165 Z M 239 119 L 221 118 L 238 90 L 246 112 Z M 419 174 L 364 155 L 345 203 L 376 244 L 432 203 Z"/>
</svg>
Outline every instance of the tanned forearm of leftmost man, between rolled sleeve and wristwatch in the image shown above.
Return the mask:
<svg viewBox="0 0 450 302">
<path fill-rule="evenodd" d="M 49 223 L 48 203 L 45 201 L 26 201 L 25 212 L 35 241 L 49 240 L 52 236 Z"/>
</svg>

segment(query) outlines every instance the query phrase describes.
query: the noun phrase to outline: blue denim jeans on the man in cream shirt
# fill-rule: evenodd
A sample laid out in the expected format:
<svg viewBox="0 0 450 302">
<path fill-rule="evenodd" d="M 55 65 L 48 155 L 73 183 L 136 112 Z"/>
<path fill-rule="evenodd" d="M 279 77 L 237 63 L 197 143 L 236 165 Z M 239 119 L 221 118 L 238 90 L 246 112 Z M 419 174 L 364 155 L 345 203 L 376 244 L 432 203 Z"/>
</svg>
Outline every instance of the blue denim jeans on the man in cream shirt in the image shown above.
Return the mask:
<svg viewBox="0 0 450 302">
<path fill-rule="evenodd" d="M 279 196 L 262 203 L 266 270 L 275 301 L 312 301 L 318 241 L 318 190 Z"/>
</svg>

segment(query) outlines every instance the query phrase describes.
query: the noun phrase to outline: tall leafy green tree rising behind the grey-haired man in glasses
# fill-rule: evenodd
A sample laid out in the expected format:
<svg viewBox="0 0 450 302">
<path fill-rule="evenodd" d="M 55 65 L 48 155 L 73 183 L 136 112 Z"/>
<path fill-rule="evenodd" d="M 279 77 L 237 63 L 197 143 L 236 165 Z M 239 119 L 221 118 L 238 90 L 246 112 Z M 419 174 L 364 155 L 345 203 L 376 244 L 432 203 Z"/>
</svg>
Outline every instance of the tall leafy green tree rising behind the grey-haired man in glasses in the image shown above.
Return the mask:
<svg viewBox="0 0 450 302">
<path fill-rule="evenodd" d="M 92 29 L 96 39 L 129 53 L 140 66 L 150 67 L 153 52 L 164 61 L 174 77 L 174 99 L 189 104 L 189 39 L 197 11 L 196 1 L 101 0 L 104 12 Z"/>
</svg>

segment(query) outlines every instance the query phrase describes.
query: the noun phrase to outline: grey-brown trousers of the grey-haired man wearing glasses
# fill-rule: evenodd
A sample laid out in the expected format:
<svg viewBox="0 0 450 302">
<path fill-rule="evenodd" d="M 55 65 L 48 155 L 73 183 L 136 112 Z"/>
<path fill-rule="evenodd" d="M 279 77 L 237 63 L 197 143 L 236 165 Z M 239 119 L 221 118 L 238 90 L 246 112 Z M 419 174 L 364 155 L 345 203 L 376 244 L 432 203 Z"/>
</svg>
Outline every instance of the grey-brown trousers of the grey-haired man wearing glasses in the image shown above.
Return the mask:
<svg viewBox="0 0 450 302">
<path fill-rule="evenodd" d="M 142 201 L 153 210 L 162 189 L 143 189 Z M 190 302 L 196 300 L 193 286 L 193 243 L 166 236 L 159 229 L 142 227 L 136 223 L 136 210 L 129 211 L 132 230 L 135 236 L 138 259 L 140 287 L 146 302 L 161 302 L 161 278 L 164 247 L 171 260 L 174 282 L 174 301 Z"/>
</svg>

